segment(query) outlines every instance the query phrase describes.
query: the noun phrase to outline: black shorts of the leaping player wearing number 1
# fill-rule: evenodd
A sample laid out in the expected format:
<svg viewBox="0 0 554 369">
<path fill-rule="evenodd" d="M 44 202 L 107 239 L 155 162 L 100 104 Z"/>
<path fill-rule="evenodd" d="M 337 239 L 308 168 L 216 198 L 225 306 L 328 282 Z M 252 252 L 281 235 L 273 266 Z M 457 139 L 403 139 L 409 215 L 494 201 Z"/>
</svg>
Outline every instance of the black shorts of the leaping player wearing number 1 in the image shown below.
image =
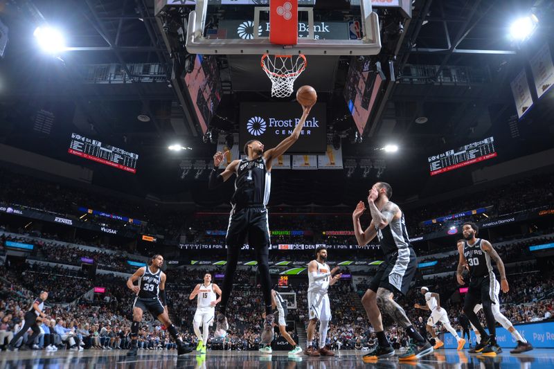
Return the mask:
<svg viewBox="0 0 554 369">
<path fill-rule="evenodd" d="M 269 249 L 271 241 L 269 240 L 267 208 L 251 206 L 233 209 L 225 237 L 226 245 L 242 247 L 247 234 L 248 244 L 251 248 L 267 247 Z"/>
</svg>

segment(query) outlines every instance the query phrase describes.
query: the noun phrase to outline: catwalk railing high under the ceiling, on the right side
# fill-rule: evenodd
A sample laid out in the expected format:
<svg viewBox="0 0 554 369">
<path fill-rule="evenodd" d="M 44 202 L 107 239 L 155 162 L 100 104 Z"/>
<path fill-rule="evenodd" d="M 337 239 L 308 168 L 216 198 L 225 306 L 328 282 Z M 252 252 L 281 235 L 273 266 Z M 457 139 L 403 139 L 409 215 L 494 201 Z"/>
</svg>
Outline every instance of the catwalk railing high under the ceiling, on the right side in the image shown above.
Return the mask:
<svg viewBox="0 0 554 369">
<path fill-rule="evenodd" d="M 444 66 L 438 73 L 438 65 L 407 64 L 402 69 L 400 83 L 404 84 L 484 84 L 491 81 L 487 69 L 476 69 L 469 66 Z"/>
</svg>

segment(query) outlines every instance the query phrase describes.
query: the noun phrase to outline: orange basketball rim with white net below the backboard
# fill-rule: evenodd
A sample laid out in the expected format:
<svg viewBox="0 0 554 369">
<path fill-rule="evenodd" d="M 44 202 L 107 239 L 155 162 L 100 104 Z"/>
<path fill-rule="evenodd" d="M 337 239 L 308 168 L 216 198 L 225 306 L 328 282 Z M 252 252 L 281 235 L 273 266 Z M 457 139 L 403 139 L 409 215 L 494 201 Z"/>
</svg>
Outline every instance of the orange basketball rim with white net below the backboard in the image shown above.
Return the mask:
<svg viewBox="0 0 554 369">
<path fill-rule="evenodd" d="M 306 68 L 306 57 L 298 55 L 262 56 L 262 69 L 271 80 L 271 97 L 287 98 L 294 91 L 294 81 Z"/>
</svg>

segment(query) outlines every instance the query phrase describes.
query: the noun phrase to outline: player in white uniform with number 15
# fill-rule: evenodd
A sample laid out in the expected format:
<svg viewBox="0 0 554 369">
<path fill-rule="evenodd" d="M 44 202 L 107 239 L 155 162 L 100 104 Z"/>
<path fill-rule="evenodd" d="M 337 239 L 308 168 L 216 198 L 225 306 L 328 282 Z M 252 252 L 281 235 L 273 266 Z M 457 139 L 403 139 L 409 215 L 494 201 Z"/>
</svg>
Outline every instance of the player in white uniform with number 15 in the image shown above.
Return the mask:
<svg viewBox="0 0 554 369">
<path fill-rule="evenodd" d="M 217 298 L 215 294 L 220 295 L 220 298 Z M 204 274 L 204 283 L 196 285 L 188 299 L 193 300 L 197 296 L 197 308 L 193 320 L 193 327 L 198 338 L 196 350 L 200 351 L 201 354 L 206 354 L 206 343 L 208 343 L 210 334 L 209 327 L 213 325 L 215 305 L 221 300 L 221 289 L 212 283 L 210 273 Z M 202 333 L 200 332 L 200 325 L 202 325 Z"/>
</svg>

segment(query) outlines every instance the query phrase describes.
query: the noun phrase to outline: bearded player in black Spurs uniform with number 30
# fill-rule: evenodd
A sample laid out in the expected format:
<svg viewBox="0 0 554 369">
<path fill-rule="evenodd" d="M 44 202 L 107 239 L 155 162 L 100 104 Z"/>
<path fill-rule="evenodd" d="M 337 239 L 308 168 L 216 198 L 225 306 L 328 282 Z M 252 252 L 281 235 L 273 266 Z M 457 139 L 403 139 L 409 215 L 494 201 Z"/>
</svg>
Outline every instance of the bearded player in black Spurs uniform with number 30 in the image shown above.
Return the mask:
<svg viewBox="0 0 554 369">
<path fill-rule="evenodd" d="M 500 273 L 500 288 L 505 294 L 510 290 L 508 280 L 506 280 L 506 270 L 497 251 L 492 248 L 492 244 L 487 240 L 475 237 L 479 232 L 479 227 L 475 223 L 465 222 L 462 226 L 462 232 L 465 242 L 458 246 L 460 260 L 456 271 L 456 278 L 458 278 L 460 285 L 465 283 L 462 276 L 465 265 L 467 264 L 470 269 L 470 288 L 465 295 L 463 312 L 481 334 L 481 342 L 479 348 L 476 347 L 476 352 L 481 352 L 481 354 L 487 356 L 496 356 L 502 352 L 502 349 L 497 344 L 497 321 L 494 319 L 494 312 L 492 312 L 492 304 L 497 303 L 497 277 L 494 276 L 491 260 L 494 260 L 497 264 Z M 485 332 L 477 314 L 474 312 L 475 306 L 479 303 L 483 305 L 489 334 Z"/>
</svg>

